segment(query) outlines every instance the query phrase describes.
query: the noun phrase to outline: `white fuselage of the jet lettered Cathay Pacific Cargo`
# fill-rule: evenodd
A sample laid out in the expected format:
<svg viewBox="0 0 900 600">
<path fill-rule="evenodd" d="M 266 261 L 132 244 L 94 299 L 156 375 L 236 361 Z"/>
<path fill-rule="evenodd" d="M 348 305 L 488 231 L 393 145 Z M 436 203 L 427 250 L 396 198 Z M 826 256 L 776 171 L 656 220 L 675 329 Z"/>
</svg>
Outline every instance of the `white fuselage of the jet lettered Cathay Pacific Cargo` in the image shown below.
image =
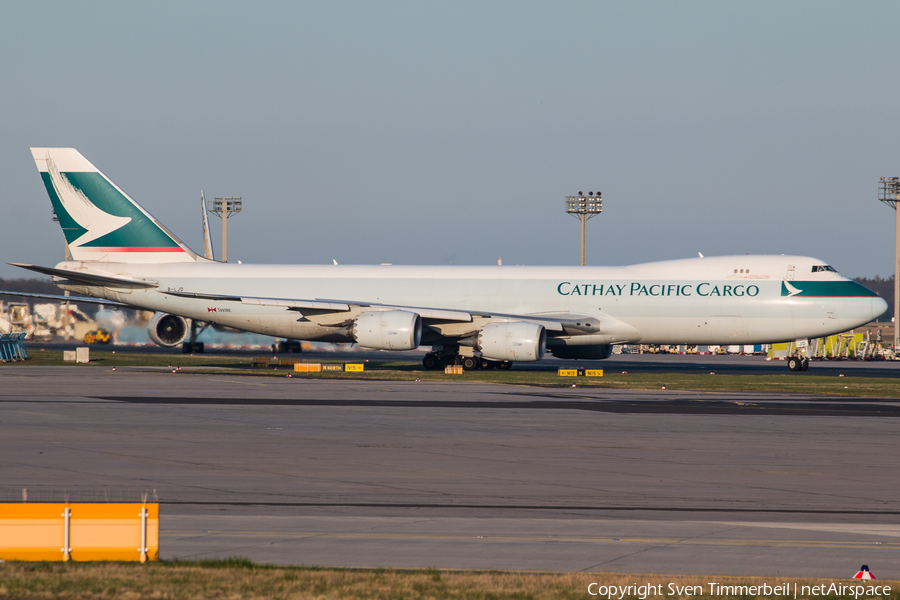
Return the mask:
<svg viewBox="0 0 900 600">
<path fill-rule="evenodd" d="M 808 257 L 733 256 L 625 267 L 240 265 L 208 261 L 61 263 L 93 273 L 148 279 L 149 290 L 67 289 L 268 335 L 352 341 L 303 311 L 167 295 L 339 300 L 482 314 L 614 319 L 639 332 L 577 343 L 753 344 L 813 338 L 870 322 L 881 298 Z M 799 290 L 799 291 L 798 291 Z M 637 338 L 637 339 L 633 339 Z M 575 338 L 573 338 L 575 339 Z M 581 341 L 583 340 L 583 341 Z M 605 340 L 605 341 L 604 341 Z"/>
</svg>

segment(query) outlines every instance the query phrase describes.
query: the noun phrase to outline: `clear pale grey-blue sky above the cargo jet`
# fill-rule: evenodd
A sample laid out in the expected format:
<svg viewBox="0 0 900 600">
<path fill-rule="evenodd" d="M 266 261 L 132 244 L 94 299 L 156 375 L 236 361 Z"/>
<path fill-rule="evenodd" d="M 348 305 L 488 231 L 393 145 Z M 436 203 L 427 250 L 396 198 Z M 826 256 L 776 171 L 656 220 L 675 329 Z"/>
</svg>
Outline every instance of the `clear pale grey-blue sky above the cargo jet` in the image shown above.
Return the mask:
<svg viewBox="0 0 900 600">
<path fill-rule="evenodd" d="M 588 264 L 886 276 L 898 22 L 896 2 L 2 3 L 0 259 L 61 259 L 28 148 L 73 146 L 195 250 L 200 190 L 243 196 L 245 263 L 576 264 L 564 197 L 600 189 Z"/>
</svg>

